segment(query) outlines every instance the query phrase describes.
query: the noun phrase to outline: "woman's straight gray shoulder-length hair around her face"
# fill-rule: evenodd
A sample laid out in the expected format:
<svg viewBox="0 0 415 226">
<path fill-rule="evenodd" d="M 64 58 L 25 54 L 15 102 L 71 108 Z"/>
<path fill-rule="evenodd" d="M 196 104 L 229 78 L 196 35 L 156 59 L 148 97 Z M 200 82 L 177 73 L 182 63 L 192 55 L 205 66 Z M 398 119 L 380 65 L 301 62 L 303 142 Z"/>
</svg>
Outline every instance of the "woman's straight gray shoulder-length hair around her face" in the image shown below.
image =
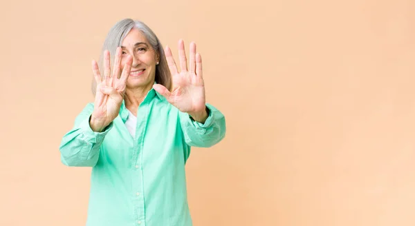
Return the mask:
<svg viewBox="0 0 415 226">
<path fill-rule="evenodd" d="M 121 46 L 122 41 L 127 36 L 132 28 L 137 28 L 142 32 L 142 34 L 146 37 L 147 41 L 154 49 L 156 54 L 159 56 L 159 63 L 156 65 L 156 83 L 164 85 L 165 88 L 171 90 L 172 88 L 172 77 L 169 71 L 169 67 L 167 65 L 167 61 L 165 59 L 165 52 L 163 50 L 163 45 L 161 45 L 158 37 L 154 32 L 142 21 L 134 21 L 132 19 L 123 19 L 122 21 L 118 21 L 113 27 L 109 30 L 107 34 L 107 38 L 104 41 L 104 45 L 102 45 L 102 51 L 100 54 L 100 59 L 98 61 L 98 68 L 100 68 L 101 76 L 104 76 L 104 50 L 109 50 L 109 54 L 111 56 L 111 69 L 112 63 L 114 60 L 114 56 L 116 55 L 116 50 L 118 46 Z M 97 88 L 97 83 L 95 79 L 92 80 L 92 93 L 95 96 Z"/>
</svg>

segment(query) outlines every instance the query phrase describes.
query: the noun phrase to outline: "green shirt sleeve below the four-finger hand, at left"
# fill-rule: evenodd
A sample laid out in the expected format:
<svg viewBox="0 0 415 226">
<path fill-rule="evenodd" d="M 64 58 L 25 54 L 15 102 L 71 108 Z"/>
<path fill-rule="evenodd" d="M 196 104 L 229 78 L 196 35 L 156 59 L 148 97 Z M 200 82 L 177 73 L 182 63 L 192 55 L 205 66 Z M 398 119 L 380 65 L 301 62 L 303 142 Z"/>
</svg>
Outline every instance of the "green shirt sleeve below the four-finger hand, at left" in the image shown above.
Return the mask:
<svg viewBox="0 0 415 226">
<path fill-rule="evenodd" d="M 93 167 L 98 162 L 100 145 L 113 127 L 113 123 L 111 122 L 102 132 L 93 132 L 89 125 L 92 112 L 93 103 L 88 103 L 76 117 L 73 128 L 64 134 L 59 145 L 64 165 Z"/>
</svg>

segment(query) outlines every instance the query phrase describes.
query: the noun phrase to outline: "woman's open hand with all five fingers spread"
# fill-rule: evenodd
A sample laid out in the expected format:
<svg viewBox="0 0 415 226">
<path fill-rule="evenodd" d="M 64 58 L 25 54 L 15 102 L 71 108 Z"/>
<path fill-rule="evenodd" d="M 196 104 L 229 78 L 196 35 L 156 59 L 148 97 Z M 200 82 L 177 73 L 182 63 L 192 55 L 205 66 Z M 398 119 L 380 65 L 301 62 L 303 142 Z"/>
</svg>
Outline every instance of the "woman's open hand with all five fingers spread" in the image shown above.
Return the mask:
<svg viewBox="0 0 415 226">
<path fill-rule="evenodd" d="M 183 40 L 178 41 L 178 56 L 181 72 L 176 68 L 176 62 L 172 56 L 172 50 L 167 46 L 165 55 L 169 70 L 172 73 L 173 89 L 169 92 L 163 85 L 155 84 L 154 90 L 165 96 L 167 101 L 181 112 L 190 114 L 195 121 L 204 123 L 208 118 L 205 102 L 205 85 L 202 76 L 201 54 L 196 53 L 196 43 L 190 43 L 189 68 Z"/>
</svg>

